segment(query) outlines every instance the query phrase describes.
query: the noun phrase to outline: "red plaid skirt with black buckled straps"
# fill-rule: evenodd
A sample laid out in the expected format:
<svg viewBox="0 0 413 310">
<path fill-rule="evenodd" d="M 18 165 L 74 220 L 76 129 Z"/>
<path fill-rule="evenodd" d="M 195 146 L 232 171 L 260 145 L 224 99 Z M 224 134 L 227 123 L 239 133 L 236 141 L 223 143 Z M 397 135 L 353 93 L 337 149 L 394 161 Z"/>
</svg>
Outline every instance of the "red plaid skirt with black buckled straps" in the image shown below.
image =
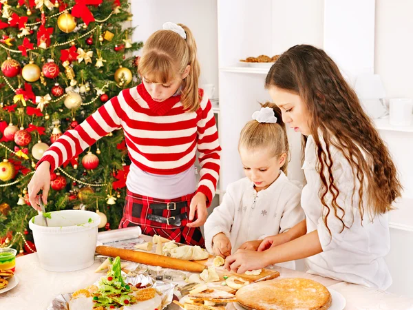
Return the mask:
<svg viewBox="0 0 413 310">
<path fill-rule="evenodd" d="M 148 196 L 142 196 L 127 191 L 125 207 L 123 208 L 123 218 L 120 220 L 119 228 L 131 226 L 140 226 L 142 234 L 153 236 L 159 235 L 169 240 L 184 243 L 186 245 L 199 245 L 204 247 L 205 241 L 202 237 L 200 227 L 187 227 L 189 220 L 186 215 L 189 215 L 189 205 L 193 194 L 185 195 L 175 199 L 158 199 Z M 171 204 L 170 209 L 153 209 L 156 204 Z M 186 206 L 173 209 L 174 203 L 186 203 Z M 151 220 L 153 216 L 158 218 L 182 218 L 180 225 L 172 225 L 169 223 L 159 223 L 156 220 Z M 176 224 L 176 223 L 173 223 Z"/>
</svg>

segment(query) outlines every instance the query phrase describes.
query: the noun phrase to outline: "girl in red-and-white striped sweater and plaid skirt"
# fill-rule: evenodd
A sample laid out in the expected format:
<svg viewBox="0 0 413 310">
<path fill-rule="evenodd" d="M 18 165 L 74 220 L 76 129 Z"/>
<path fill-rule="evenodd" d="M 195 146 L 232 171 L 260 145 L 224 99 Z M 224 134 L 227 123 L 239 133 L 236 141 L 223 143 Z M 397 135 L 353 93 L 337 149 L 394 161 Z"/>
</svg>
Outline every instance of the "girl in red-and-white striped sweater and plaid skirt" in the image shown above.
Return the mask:
<svg viewBox="0 0 413 310">
<path fill-rule="evenodd" d="M 142 234 L 203 246 L 199 227 L 215 194 L 221 148 L 211 103 L 198 89 L 200 66 L 189 28 L 165 23 L 153 33 L 138 72 L 140 85 L 122 90 L 45 152 L 28 185 L 30 203 L 40 209 L 41 189 L 47 202 L 50 172 L 56 167 L 122 127 L 131 167 L 119 228 L 139 225 Z"/>
</svg>

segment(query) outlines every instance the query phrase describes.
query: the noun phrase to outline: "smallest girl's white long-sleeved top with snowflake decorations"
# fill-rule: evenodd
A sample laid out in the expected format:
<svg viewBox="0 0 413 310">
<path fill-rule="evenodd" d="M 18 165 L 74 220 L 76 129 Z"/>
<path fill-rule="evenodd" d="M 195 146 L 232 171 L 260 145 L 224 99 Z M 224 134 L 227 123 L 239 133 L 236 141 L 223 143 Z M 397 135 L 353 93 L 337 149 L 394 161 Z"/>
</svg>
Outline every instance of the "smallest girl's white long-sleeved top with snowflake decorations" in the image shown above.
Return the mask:
<svg viewBox="0 0 413 310">
<path fill-rule="evenodd" d="M 212 238 L 224 233 L 235 253 L 251 240 L 280 234 L 301 220 L 304 212 L 299 205 L 301 190 L 283 172 L 267 189 L 255 192 L 248 178 L 228 185 L 220 206 L 216 207 L 204 225 L 205 244 L 213 253 Z M 295 262 L 282 264 L 295 269 Z"/>
</svg>

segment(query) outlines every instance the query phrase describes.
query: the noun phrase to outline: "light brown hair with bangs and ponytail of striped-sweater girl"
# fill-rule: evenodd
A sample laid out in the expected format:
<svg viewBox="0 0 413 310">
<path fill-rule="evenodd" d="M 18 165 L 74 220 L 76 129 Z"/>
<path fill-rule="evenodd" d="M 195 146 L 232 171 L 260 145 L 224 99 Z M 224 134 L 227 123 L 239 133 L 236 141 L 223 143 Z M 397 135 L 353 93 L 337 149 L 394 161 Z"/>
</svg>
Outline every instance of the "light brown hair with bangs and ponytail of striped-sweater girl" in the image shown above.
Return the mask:
<svg viewBox="0 0 413 310">
<path fill-rule="evenodd" d="M 191 71 L 182 80 L 180 101 L 187 112 L 195 112 L 201 101 L 198 92 L 201 71 L 197 47 L 191 30 L 182 23 L 178 25 L 185 30 L 187 39 L 171 30 L 158 30 L 151 34 L 142 49 L 138 72 L 153 83 L 169 83 L 190 65 Z"/>
</svg>

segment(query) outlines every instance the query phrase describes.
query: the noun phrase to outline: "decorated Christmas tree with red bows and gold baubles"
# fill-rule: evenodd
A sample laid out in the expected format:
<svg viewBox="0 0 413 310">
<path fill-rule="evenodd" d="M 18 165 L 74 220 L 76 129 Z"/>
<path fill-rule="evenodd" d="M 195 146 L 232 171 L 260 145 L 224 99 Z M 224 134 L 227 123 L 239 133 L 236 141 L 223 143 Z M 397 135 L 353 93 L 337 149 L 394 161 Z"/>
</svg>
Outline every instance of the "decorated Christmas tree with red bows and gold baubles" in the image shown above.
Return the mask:
<svg viewBox="0 0 413 310">
<path fill-rule="evenodd" d="M 27 185 L 65 130 L 138 84 L 127 0 L 0 1 L 0 247 L 35 249 Z M 117 228 L 129 162 L 115 130 L 52 173 L 47 211 L 100 211 Z M 105 224 L 105 222 L 107 223 Z M 25 241 L 27 240 L 27 242 Z"/>
</svg>

